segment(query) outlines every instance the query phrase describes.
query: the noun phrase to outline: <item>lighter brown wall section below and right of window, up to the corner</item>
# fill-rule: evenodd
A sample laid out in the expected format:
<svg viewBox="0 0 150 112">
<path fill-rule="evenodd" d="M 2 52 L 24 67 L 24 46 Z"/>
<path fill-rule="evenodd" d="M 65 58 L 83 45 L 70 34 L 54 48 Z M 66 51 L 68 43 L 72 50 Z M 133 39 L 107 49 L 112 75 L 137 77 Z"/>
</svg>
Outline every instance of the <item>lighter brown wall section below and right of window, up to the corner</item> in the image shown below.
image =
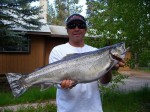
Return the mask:
<svg viewBox="0 0 150 112">
<path fill-rule="evenodd" d="M 29 73 L 43 65 L 44 39 L 31 37 L 29 53 L 0 54 L 0 74 L 8 72 Z"/>
</svg>

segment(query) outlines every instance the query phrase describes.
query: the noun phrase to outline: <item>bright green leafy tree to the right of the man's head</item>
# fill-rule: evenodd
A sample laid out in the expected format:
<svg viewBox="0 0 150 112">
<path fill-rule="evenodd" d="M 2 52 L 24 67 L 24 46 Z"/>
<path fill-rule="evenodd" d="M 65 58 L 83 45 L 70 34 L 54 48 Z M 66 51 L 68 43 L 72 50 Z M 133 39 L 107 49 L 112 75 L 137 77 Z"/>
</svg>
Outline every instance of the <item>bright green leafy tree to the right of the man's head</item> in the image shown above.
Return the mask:
<svg viewBox="0 0 150 112">
<path fill-rule="evenodd" d="M 107 45 L 126 42 L 134 67 L 138 67 L 143 52 L 150 59 L 149 0 L 101 0 L 88 4 L 92 5 L 88 16 L 90 29 L 94 29 L 89 33 L 101 36 Z"/>
</svg>

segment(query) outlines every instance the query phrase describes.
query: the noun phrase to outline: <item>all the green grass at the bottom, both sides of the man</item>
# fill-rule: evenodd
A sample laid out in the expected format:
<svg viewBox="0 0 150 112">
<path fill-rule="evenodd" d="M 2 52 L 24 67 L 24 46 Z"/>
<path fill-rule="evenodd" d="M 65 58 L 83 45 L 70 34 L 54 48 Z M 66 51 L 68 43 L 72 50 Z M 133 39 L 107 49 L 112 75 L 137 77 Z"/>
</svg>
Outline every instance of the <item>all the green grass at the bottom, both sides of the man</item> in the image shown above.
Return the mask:
<svg viewBox="0 0 150 112">
<path fill-rule="evenodd" d="M 27 102 L 42 102 L 55 99 L 55 88 L 40 92 L 38 88 L 32 88 L 19 98 L 13 98 L 10 93 L 0 93 L 0 106 L 20 104 Z M 109 91 L 103 94 L 102 100 L 104 112 L 150 112 L 150 88 L 145 87 L 139 91 L 128 93 Z M 56 105 L 47 104 L 44 107 L 22 107 L 17 112 L 56 112 Z M 4 112 L 13 112 L 6 109 Z"/>
</svg>

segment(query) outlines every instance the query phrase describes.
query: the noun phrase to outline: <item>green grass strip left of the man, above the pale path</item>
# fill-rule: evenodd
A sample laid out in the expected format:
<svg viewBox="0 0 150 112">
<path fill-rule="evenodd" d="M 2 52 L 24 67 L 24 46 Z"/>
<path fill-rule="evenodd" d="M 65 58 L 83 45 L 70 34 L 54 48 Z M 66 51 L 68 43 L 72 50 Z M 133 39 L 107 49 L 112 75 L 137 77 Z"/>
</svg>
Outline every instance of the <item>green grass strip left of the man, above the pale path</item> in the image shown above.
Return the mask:
<svg viewBox="0 0 150 112">
<path fill-rule="evenodd" d="M 32 103 L 43 102 L 48 99 L 56 98 L 56 89 L 50 88 L 45 91 L 40 91 L 39 88 L 34 87 L 27 90 L 20 97 L 15 98 L 11 92 L 0 92 L 0 106 L 20 104 L 20 103 Z"/>
</svg>

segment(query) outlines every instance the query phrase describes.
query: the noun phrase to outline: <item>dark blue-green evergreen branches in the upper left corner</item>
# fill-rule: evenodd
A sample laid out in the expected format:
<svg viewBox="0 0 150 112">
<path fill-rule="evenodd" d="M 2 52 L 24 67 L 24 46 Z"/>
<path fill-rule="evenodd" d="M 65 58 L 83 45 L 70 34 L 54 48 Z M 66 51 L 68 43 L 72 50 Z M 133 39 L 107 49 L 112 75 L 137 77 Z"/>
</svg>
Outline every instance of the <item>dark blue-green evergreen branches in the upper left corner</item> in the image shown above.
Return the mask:
<svg viewBox="0 0 150 112">
<path fill-rule="evenodd" d="M 17 43 L 25 34 L 14 31 L 20 27 L 27 30 L 38 30 L 40 22 L 40 7 L 31 7 L 30 3 L 38 0 L 1 0 L 0 1 L 0 47 Z"/>
</svg>

